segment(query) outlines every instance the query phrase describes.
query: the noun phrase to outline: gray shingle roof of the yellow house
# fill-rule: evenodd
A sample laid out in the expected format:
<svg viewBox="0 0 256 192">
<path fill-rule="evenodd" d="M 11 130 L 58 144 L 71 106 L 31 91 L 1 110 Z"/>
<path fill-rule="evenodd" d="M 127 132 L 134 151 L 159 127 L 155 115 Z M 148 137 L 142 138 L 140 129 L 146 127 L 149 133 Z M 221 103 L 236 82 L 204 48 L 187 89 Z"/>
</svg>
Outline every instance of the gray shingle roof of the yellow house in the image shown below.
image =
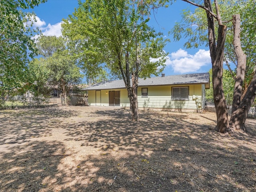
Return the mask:
<svg viewBox="0 0 256 192">
<path fill-rule="evenodd" d="M 164 77 L 152 77 L 147 79 L 139 79 L 139 86 L 161 86 L 161 85 L 177 85 L 177 84 L 207 84 L 209 86 L 209 73 L 195 73 L 171 75 Z M 103 89 L 120 89 L 125 88 L 124 80 L 113 80 L 93 84 L 83 90 L 103 90 Z"/>
</svg>

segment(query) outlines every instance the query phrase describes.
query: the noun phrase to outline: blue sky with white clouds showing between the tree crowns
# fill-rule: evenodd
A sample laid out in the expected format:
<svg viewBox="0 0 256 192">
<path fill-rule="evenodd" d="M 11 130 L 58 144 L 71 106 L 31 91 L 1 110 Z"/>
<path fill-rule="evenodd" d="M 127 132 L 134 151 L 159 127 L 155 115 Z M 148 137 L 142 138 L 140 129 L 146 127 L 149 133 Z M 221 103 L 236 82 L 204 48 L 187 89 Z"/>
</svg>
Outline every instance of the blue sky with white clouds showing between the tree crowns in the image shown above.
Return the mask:
<svg viewBox="0 0 256 192">
<path fill-rule="evenodd" d="M 77 0 L 48 0 L 32 10 L 37 15 L 35 26 L 39 27 L 44 35 L 61 36 L 62 19 L 68 18 L 77 6 Z M 169 52 L 164 69 L 166 76 L 208 72 L 211 68 L 208 47 L 185 49 L 183 47 L 185 40 L 174 42 L 172 35 L 168 35 L 168 31 L 173 28 L 175 22 L 181 20 L 181 13 L 185 8 L 194 10 L 195 7 L 177 0 L 168 8 L 162 8 L 154 16 L 150 16 L 150 26 L 154 26 L 157 31 L 163 32 L 164 36 L 170 39 L 164 48 L 166 52 Z"/>
</svg>

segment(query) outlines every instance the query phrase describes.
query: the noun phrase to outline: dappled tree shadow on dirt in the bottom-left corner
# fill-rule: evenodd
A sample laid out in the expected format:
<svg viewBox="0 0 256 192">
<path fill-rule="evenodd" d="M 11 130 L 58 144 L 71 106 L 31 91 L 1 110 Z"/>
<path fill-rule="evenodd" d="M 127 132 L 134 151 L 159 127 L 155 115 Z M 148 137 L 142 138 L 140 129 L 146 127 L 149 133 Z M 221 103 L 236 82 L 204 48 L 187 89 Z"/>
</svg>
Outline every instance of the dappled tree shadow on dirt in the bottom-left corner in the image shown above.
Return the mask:
<svg viewBox="0 0 256 192">
<path fill-rule="evenodd" d="M 60 142 L 29 142 L 0 154 L 2 192 L 40 191 L 56 182 L 64 183 L 65 175 L 58 166 L 66 154 Z"/>
</svg>

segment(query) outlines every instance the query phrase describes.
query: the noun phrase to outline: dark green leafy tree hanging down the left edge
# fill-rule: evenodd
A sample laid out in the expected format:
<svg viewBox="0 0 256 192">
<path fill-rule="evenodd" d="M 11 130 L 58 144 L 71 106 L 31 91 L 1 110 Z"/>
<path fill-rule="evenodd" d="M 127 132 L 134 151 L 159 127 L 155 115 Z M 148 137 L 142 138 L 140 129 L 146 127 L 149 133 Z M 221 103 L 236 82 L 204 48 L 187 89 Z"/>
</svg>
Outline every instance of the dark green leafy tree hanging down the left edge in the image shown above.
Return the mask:
<svg viewBox="0 0 256 192">
<path fill-rule="evenodd" d="M 36 55 L 32 39 L 34 14 L 25 12 L 45 0 L 0 1 L 0 84 L 1 94 L 19 88 L 29 59 Z"/>
</svg>

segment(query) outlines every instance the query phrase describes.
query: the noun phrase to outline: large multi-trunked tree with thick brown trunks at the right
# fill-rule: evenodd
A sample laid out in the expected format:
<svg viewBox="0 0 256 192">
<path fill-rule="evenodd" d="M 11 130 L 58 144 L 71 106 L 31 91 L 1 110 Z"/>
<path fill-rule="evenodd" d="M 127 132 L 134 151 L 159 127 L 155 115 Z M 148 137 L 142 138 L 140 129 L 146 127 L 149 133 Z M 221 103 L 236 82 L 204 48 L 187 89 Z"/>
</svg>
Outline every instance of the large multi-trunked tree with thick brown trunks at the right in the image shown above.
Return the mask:
<svg viewBox="0 0 256 192">
<path fill-rule="evenodd" d="M 232 115 L 230 118 L 230 122 L 228 122 L 228 115 L 226 109 L 226 102 L 224 98 L 224 91 L 223 91 L 223 60 L 224 60 L 224 46 L 226 44 L 226 32 L 227 26 L 224 25 L 222 17 L 221 17 L 221 6 L 218 4 L 217 0 L 214 0 L 215 9 L 212 9 L 211 1 L 204 0 L 204 6 L 196 4 L 194 2 L 190 2 L 188 0 L 183 0 L 200 8 L 203 8 L 206 11 L 206 18 L 207 18 L 207 26 L 208 26 L 208 45 L 210 47 L 210 55 L 212 59 L 212 82 L 213 82 L 213 91 L 214 91 L 214 103 L 216 106 L 216 114 L 217 114 L 217 128 L 219 132 L 225 133 L 232 129 L 241 129 L 244 130 L 244 122 L 246 120 L 248 111 L 250 106 L 252 105 L 255 96 L 256 96 L 256 74 L 253 73 L 252 80 L 250 86 L 248 86 L 247 91 L 242 97 L 242 85 L 244 82 L 245 71 L 246 71 L 246 54 L 244 54 L 241 46 L 240 41 L 240 16 L 239 14 L 233 14 L 232 17 L 232 37 L 228 36 L 228 38 L 232 38 L 233 41 L 233 54 L 236 56 L 237 60 L 237 68 L 236 68 L 236 78 L 235 78 L 235 86 L 234 86 L 234 94 L 233 94 L 233 104 L 232 104 Z M 221 1 L 222 2 L 222 1 Z M 226 2 L 227 6 L 232 6 L 234 3 L 240 3 L 240 1 L 229 1 Z M 244 1 L 243 1 L 244 2 Z M 248 0 L 245 2 L 246 5 L 255 4 L 254 1 Z M 250 7 L 249 6 L 249 7 Z M 255 7 L 255 6 L 254 6 Z M 236 9 L 232 9 L 233 11 Z M 237 10 L 236 10 L 237 11 Z M 254 15 L 252 9 L 250 10 L 251 16 Z M 227 15 L 227 14 L 226 14 Z M 202 15 L 201 15 L 202 16 Z M 204 16 L 205 17 L 205 16 Z M 193 18 L 193 17 L 192 17 Z M 250 20 L 255 20 L 254 19 Z M 186 21 L 188 22 L 197 22 L 197 21 L 204 21 L 202 17 L 198 17 L 197 20 L 193 20 L 188 18 Z M 248 20 L 245 20 L 243 23 L 247 23 Z M 203 23 L 198 24 L 198 31 L 199 36 L 196 38 L 190 38 L 190 42 L 188 42 L 189 46 L 192 46 L 194 43 L 195 46 L 198 46 L 197 41 L 203 42 L 206 40 L 203 34 Z M 217 24 L 215 26 L 215 24 Z M 255 26 L 254 26 L 255 27 Z M 217 30 L 216 30 L 217 28 Z M 242 28 L 243 29 L 243 28 Z M 186 35 L 192 35 L 192 30 L 179 27 L 178 25 L 175 26 L 173 31 L 176 36 L 176 39 L 180 38 L 180 35 L 177 35 L 177 32 L 186 32 Z M 202 32 L 202 33 L 200 33 Z M 228 30 L 229 32 L 229 30 Z M 250 30 L 247 30 L 245 33 L 250 33 Z M 201 35 L 201 36 L 200 36 Z M 251 35 L 249 35 L 251 37 Z M 216 42 L 217 38 L 217 42 Z M 230 41 L 227 41 L 230 42 Z"/>
</svg>

